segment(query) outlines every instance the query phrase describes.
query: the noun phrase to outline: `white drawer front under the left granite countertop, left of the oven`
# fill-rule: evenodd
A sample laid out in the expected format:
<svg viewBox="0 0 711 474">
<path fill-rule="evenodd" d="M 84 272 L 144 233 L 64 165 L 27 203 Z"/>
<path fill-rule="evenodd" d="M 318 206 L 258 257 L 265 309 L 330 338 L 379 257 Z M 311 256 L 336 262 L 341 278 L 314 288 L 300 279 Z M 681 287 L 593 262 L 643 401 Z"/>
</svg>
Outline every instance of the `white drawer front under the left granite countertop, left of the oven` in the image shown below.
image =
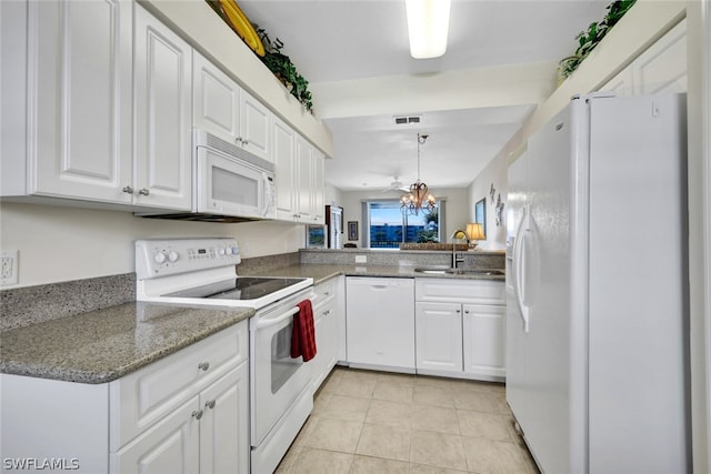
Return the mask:
<svg viewBox="0 0 711 474">
<path fill-rule="evenodd" d="M 111 451 L 117 451 L 208 384 L 246 361 L 248 322 L 111 382 Z M 207 364 L 207 365 L 206 365 Z"/>
</svg>

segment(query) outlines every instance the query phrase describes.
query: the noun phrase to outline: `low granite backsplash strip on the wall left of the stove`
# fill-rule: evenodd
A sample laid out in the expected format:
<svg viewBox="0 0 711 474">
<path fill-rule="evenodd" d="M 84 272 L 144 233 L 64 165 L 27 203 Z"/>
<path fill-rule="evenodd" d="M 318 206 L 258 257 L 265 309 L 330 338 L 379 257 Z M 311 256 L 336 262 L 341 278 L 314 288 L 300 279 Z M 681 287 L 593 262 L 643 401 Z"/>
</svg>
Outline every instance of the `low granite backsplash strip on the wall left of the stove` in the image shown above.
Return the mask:
<svg viewBox="0 0 711 474">
<path fill-rule="evenodd" d="M 136 273 L 0 292 L 0 331 L 136 301 Z"/>
</svg>

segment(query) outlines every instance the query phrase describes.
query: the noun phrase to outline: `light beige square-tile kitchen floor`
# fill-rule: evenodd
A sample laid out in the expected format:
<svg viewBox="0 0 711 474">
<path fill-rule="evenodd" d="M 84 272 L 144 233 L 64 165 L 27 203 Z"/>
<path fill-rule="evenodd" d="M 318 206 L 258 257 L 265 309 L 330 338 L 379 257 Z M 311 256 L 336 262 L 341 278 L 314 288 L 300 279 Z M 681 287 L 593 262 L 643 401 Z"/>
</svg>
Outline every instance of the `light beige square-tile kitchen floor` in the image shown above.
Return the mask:
<svg viewBox="0 0 711 474">
<path fill-rule="evenodd" d="M 336 367 L 277 473 L 539 471 L 502 384 Z"/>
</svg>

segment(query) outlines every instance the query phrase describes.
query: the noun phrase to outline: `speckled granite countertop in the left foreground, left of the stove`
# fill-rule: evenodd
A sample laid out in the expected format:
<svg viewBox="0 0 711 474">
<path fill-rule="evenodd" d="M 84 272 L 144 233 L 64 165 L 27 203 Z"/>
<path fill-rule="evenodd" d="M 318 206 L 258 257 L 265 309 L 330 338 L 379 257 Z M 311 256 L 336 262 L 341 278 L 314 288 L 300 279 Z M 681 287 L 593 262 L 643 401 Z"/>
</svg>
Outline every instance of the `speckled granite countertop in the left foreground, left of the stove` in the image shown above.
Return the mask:
<svg viewBox="0 0 711 474">
<path fill-rule="evenodd" d="M 106 383 L 254 314 L 126 303 L 0 333 L 0 372 Z"/>
</svg>

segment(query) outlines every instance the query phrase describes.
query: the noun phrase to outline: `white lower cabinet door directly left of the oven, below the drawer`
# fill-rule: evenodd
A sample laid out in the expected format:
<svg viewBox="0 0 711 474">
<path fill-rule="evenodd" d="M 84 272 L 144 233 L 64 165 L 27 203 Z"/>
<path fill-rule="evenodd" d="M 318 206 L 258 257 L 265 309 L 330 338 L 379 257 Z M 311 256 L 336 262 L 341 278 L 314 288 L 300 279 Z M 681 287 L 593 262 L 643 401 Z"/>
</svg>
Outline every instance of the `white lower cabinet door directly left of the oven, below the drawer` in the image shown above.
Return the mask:
<svg viewBox="0 0 711 474">
<path fill-rule="evenodd" d="M 249 472 L 249 365 L 200 394 L 200 474 Z"/>
</svg>

